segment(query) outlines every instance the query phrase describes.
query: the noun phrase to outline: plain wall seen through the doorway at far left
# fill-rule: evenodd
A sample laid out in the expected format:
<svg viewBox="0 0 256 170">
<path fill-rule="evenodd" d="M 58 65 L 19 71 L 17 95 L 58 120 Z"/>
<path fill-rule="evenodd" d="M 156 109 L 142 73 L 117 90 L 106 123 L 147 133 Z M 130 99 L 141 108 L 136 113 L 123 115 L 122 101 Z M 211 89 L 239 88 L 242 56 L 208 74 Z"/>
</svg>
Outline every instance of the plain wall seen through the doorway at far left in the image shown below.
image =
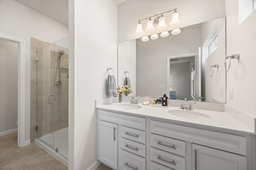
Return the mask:
<svg viewBox="0 0 256 170">
<path fill-rule="evenodd" d="M 18 43 L 0 39 L 0 136 L 17 128 Z M 17 129 L 16 129 L 17 130 Z"/>
</svg>

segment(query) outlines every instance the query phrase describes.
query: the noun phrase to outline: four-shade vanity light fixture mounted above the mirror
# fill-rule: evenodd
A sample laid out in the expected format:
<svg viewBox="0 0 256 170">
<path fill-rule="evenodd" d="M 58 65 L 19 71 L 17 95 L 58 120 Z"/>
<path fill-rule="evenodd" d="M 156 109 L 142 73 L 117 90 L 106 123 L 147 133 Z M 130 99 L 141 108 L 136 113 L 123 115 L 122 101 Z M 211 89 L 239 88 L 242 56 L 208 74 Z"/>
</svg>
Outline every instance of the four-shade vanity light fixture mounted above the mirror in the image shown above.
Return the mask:
<svg viewBox="0 0 256 170">
<path fill-rule="evenodd" d="M 169 24 L 170 26 L 178 26 L 180 24 L 179 14 L 176 10 L 177 10 L 177 8 L 167 11 L 167 12 L 174 11 L 174 13 L 172 14 L 172 20 Z M 159 29 L 159 30 L 165 29 L 167 27 L 167 25 L 165 23 L 165 17 L 163 14 L 165 14 L 167 12 L 162 12 L 161 14 L 155 14 L 154 16 L 150 16 L 148 18 L 139 20 L 135 34 L 142 35 L 144 33 L 143 29 L 142 29 L 142 24 L 140 23 L 140 21 L 143 21 L 143 20 L 148 20 L 147 27 L 146 27 L 146 32 L 148 32 L 148 33 L 153 32 L 155 30 L 154 25 L 156 25 L 157 29 Z M 154 22 L 151 20 L 152 17 L 155 17 Z M 153 25 L 153 23 L 154 23 L 154 25 Z"/>
</svg>

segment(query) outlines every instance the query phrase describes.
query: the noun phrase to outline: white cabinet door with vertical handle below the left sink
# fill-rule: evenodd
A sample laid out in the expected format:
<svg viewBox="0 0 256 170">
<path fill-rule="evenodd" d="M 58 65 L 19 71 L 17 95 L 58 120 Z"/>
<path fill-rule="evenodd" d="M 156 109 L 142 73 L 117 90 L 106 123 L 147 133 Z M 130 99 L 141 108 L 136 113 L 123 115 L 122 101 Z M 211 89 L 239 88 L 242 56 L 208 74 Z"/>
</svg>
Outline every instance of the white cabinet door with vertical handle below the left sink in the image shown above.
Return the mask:
<svg viewBox="0 0 256 170">
<path fill-rule="evenodd" d="M 117 125 L 99 120 L 98 126 L 98 158 L 117 169 Z"/>
</svg>

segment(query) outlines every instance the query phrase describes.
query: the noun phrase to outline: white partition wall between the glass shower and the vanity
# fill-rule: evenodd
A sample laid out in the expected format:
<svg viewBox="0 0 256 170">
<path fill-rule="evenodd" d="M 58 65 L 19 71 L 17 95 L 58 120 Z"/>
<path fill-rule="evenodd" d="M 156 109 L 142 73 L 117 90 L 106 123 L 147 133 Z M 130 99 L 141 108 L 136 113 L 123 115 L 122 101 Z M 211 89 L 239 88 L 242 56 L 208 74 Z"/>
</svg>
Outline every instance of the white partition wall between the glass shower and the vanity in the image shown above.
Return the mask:
<svg viewBox="0 0 256 170">
<path fill-rule="evenodd" d="M 69 169 L 86 170 L 97 159 L 95 99 L 106 97 L 106 68 L 117 77 L 117 5 L 114 0 L 69 4 L 74 20 L 69 23 Z"/>
</svg>

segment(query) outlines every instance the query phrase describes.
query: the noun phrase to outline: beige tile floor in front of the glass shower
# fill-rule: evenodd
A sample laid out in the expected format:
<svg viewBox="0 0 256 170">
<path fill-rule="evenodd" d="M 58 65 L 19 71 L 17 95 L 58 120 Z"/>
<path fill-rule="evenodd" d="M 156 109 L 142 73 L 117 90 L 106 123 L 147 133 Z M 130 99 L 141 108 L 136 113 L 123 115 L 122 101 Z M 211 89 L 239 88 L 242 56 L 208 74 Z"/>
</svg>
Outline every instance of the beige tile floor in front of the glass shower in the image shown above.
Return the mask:
<svg viewBox="0 0 256 170">
<path fill-rule="evenodd" d="M 0 137 L 0 170 L 68 170 L 35 143 L 17 147 L 17 133 Z"/>
</svg>

